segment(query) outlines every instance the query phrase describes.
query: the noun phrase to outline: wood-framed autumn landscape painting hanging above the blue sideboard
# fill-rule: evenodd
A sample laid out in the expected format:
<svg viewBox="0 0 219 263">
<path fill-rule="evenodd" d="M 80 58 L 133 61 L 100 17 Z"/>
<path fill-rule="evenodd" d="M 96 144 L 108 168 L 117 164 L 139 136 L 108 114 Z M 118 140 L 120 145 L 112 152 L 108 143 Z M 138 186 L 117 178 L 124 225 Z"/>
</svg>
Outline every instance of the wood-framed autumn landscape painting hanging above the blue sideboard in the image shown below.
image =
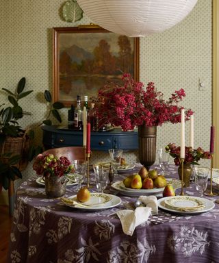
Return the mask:
<svg viewBox="0 0 219 263">
<path fill-rule="evenodd" d="M 98 26 L 53 28 L 53 95 L 66 107 L 77 95 L 95 97 L 123 73 L 139 80 L 139 38 L 129 38 Z"/>
</svg>

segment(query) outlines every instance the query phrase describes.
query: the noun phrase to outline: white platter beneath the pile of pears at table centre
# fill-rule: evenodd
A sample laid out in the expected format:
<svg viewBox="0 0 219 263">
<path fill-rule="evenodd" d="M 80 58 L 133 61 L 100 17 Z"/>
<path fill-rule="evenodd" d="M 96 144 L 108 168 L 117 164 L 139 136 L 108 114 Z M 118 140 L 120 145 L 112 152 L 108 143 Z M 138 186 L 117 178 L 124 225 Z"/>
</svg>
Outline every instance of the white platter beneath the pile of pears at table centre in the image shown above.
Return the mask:
<svg viewBox="0 0 219 263">
<path fill-rule="evenodd" d="M 168 184 L 172 184 L 173 188 L 179 189 L 181 188 L 181 181 L 179 179 L 169 179 L 166 178 Z M 122 195 L 126 195 L 127 197 L 139 197 L 140 195 L 159 195 L 164 191 L 163 188 L 153 188 L 153 189 L 132 189 L 127 188 L 123 184 L 123 181 L 116 181 L 112 184 L 112 188 L 118 190 Z"/>
</svg>

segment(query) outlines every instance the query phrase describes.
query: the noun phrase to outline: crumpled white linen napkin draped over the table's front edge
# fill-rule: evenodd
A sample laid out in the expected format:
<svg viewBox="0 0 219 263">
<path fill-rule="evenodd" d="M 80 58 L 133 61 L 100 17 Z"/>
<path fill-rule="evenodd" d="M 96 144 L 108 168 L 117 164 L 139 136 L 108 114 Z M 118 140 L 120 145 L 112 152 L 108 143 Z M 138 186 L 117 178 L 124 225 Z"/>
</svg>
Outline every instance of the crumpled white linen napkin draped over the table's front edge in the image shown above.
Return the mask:
<svg viewBox="0 0 219 263">
<path fill-rule="evenodd" d="M 151 211 L 157 214 L 157 197 L 145 197 L 140 196 L 138 198 L 146 207 L 138 207 L 136 210 L 120 210 L 116 214 L 120 219 L 120 222 L 123 227 L 123 232 L 129 236 L 133 235 L 136 227 L 142 223 L 148 221 Z"/>
</svg>

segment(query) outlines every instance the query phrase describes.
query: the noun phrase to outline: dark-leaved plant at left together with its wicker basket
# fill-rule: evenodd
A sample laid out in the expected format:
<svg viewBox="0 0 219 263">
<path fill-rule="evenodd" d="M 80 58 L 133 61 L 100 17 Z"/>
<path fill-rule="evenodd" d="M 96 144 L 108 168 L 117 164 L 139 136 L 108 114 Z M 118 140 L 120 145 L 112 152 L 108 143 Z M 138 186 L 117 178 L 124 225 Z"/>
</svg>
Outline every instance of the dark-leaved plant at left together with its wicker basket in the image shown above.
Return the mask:
<svg viewBox="0 0 219 263">
<path fill-rule="evenodd" d="M 22 178 L 21 171 L 27 167 L 28 162 L 35 155 L 42 151 L 42 147 L 34 147 L 34 129 L 22 129 L 18 123 L 18 120 L 23 118 L 25 114 L 30 114 L 19 105 L 21 99 L 33 92 L 33 90 L 24 90 L 25 83 L 26 79 L 22 77 L 15 92 L 6 88 L 2 89 L 8 94 L 8 102 L 10 103 L 10 106 L 7 107 L 4 107 L 5 103 L 0 105 L 0 186 L 6 190 L 10 179 Z M 60 102 L 52 103 L 49 90 L 45 90 L 44 99 L 49 103 L 49 113 L 42 123 L 51 125 L 52 122 L 49 118 L 51 114 L 61 123 L 62 119 L 58 110 L 64 105 Z"/>
</svg>

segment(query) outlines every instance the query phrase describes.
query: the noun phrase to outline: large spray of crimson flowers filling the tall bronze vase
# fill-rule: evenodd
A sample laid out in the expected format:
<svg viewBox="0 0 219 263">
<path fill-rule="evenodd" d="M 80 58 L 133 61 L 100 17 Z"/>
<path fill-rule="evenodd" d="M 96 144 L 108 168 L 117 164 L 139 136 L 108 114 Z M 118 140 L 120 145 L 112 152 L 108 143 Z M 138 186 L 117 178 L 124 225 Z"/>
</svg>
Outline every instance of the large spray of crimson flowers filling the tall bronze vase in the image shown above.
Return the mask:
<svg viewBox="0 0 219 263">
<path fill-rule="evenodd" d="M 172 93 L 168 101 L 162 92 L 156 90 L 153 82 L 144 89 L 142 82 L 135 82 L 131 75 L 123 75 L 123 85 L 106 85 L 99 90 L 95 103 L 99 127 L 111 124 L 127 131 L 136 125 L 157 126 L 163 123 L 181 122 L 181 108 L 178 103 L 185 97 L 183 89 Z M 185 120 L 193 114 L 185 111 Z"/>
</svg>

